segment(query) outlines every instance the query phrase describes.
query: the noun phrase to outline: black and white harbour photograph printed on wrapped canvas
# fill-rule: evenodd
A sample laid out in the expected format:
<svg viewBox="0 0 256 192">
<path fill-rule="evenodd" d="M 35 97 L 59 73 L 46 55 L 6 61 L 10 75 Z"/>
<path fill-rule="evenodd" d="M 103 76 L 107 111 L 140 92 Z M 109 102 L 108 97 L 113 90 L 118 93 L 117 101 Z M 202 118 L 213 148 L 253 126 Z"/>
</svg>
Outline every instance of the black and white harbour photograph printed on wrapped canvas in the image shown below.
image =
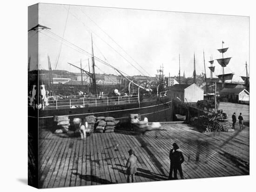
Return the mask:
<svg viewBox="0 0 256 192">
<path fill-rule="evenodd" d="M 249 27 L 249 16 L 28 6 L 28 185 L 249 175 Z"/>
</svg>

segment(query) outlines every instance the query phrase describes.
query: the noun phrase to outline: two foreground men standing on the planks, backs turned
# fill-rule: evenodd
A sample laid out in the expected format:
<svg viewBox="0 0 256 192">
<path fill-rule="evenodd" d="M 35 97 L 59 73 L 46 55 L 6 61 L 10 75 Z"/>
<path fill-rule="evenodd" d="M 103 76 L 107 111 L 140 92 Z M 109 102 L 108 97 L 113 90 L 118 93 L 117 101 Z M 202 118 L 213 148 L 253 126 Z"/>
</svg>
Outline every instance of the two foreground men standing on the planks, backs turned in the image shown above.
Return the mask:
<svg viewBox="0 0 256 192">
<path fill-rule="evenodd" d="M 174 143 L 173 148 L 170 150 L 169 158 L 170 158 L 170 172 L 168 179 L 178 179 L 177 172 L 179 171 L 181 179 L 184 179 L 183 172 L 182 172 L 182 163 L 184 162 L 184 157 L 182 152 L 177 151 L 179 146 Z M 128 151 L 129 157 L 126 163 L 127 167 L 127 182 L 134 182 L 135 181 L 135 173 L 136 173 L 136 162 L 137 157 L 134 154 L 134 151 L 130 149 Z M 174 173 L 174 177 L 172 177 L 172 173 Z"/>
</svg>

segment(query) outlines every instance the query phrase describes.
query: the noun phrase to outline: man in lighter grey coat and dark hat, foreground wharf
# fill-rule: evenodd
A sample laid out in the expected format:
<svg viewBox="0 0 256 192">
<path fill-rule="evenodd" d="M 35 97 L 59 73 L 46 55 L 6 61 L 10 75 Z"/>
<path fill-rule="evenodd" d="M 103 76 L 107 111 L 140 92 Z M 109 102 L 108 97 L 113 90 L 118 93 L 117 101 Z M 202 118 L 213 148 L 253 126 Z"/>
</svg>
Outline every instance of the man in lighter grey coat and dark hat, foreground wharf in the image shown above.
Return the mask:
<svg viewBox="0 0 256 192">
<path fill-rule="evenodd" d="M 137 157 L 134 154 L 134 151 L 130 149 L 128 151 L 129 157 L 126 163 L 127 167 L 127 183 L 134 182 L 135 173 L 136 173 L 136 161 Z"/>
</svg>

